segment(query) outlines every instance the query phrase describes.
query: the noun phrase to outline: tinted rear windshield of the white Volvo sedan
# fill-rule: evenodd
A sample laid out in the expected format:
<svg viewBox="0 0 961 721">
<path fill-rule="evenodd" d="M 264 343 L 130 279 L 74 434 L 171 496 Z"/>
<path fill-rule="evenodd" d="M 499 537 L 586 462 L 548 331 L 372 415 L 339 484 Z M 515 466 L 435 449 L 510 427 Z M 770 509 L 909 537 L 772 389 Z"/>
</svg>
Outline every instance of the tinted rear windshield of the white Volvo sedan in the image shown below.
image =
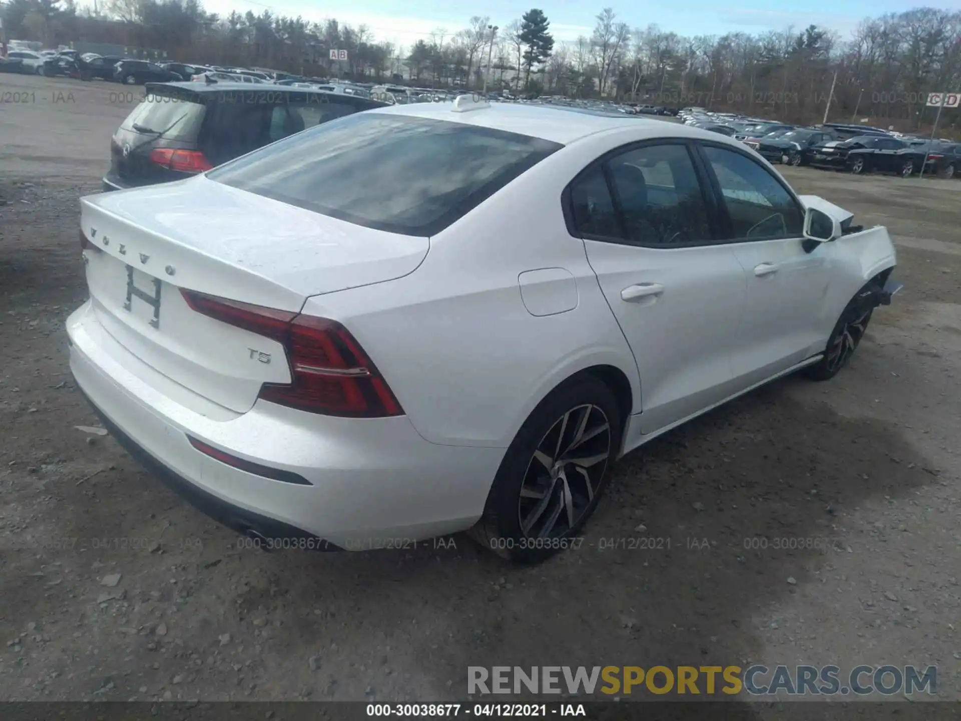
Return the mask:
<svg viewBox="0 0 961 721">
<path fill-rule="evenodd" d="M 445 120 L 362 112 L 208 177 L 357 225 L 432 236 L 560 147 Z"/>
</svg>

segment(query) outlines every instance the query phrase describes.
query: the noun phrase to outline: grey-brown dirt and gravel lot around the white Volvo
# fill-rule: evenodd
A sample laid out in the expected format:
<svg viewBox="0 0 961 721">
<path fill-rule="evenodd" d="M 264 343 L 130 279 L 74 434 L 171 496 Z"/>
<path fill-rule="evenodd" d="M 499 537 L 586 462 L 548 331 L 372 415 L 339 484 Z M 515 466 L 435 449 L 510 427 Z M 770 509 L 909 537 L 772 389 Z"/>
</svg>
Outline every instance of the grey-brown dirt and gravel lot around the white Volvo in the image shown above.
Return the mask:
<svg viewBox="0 0 961 721">
<path fill-rule="evenodd" d="M 268 555 L 75 428 L 97 425 L 63 334 L 86 293 L 77 198 L 130 104 L 0 86 L 36 93 L 0 105 L 0 700 L 454 700 L 468 665 L 748 661 L 936 664 L 936 698 L 961 700 L 961 182 L 785 169 L 890 228 L 904 291 L 834 381 L 786 379 L 623 460 L 578 551 Z M 600 550 L 624 536 L 671 547 Z"/>
</svg>

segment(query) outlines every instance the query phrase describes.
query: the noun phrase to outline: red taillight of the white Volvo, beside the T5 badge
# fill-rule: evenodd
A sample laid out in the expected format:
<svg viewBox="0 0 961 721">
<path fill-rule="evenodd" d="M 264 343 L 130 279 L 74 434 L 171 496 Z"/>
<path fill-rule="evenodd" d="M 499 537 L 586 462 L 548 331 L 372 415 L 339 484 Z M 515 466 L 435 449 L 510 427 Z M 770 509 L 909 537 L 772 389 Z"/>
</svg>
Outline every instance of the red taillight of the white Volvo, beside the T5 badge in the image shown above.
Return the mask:
<svg viewBox="0 0 961 721">
<path fill-rule="evenodd" d="M 283 344 L 292 382 L 262 385 L 262 400 L 352 418 L 404 414 L 373 361 L 340 323 L 184 288 L 181 293 L 194 311 Z"/>
</svg>

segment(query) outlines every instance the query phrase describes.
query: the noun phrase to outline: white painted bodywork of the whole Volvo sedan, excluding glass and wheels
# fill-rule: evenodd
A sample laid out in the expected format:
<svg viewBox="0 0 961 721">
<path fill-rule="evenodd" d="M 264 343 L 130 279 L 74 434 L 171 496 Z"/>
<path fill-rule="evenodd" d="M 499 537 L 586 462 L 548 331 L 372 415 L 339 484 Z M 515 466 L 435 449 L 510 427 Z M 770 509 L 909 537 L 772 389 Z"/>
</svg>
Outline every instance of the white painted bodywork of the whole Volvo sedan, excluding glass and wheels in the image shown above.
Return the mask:
<svg viewBox="0 0 961 721">
<path fill-rule="evenodd" d="M 793 241 L 655 250 L 569 234 L 561 194 L 587 164 L 654 137 L 740 146 L 707 131 L 506 104 L 376 112 L 566 146 L 430 239 L 361 228 L 205 177 L 84 198 L 85 233 L 99 226 L 115 242 L 99 258 L 86 251 L 93 298 L 67 322 L 78 385 L 136 443 L 222 500 L 338 545 L 472 525 L 530 412 L 584 369 L 611 366 L 627 379 L 624 450 L 789 372 L 824 348 L 854 293 L 895 263 L 883 228 L 803 257 Z M 152 336 L 142 313 L 117 311 L 121 238 L 128 253 L 151 256 L 138 268 L 144 278 L 160 278 L 175 295 L 172 329 L 161 316 Z M 762 261 L 782 267 L 759 278 L 752 264 Z M 663 293 L 624 300 L 625 287 L 645 283 Z M 280 356 L 283 348 L 191 318 L 176 305 L 177 286 L 342 323 L 406 415 L 332 418 L 257 400 L 259 384 L 282 371 L 250 365 L 241 347 L 257 342 Z M 211 460 L 187 433 L 315 485 Z"/>
</svg>

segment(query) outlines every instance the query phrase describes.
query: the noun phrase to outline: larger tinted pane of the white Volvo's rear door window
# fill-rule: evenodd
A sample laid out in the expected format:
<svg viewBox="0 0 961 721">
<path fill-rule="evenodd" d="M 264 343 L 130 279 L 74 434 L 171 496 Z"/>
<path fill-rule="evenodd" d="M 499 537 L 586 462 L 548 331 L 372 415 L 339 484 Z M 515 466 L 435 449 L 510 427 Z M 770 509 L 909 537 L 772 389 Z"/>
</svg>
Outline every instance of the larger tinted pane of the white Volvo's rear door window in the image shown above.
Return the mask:
<svg viewBox="0 0 961 721">
<path fill-rule="evenodd" d="M 694 163 L 683 145 L 649 145 L 608 162 L 628 240 L 698 243 L 710 237 Z"/>
</svg>

